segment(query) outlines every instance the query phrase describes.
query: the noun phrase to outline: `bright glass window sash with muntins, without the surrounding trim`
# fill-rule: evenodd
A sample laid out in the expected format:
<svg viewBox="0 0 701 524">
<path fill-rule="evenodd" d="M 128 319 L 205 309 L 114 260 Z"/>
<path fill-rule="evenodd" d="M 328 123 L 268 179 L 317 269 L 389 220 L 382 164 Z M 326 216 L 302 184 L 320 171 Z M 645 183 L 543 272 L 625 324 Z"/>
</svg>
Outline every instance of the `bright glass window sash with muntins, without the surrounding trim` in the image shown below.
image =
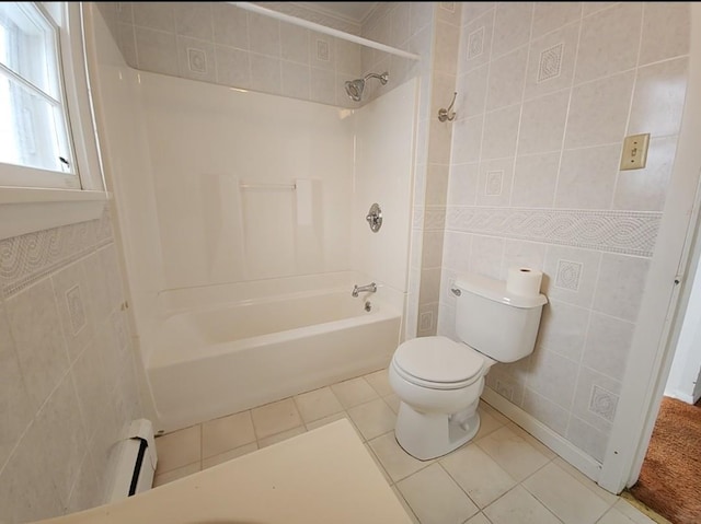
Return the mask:
<svg viewBox="0 0 701 524">
<path fill-rule="evenodd" d="M 39 4 L 0 3 L 0 185 L 80 188 L 59 27 Z"/>
</svg>

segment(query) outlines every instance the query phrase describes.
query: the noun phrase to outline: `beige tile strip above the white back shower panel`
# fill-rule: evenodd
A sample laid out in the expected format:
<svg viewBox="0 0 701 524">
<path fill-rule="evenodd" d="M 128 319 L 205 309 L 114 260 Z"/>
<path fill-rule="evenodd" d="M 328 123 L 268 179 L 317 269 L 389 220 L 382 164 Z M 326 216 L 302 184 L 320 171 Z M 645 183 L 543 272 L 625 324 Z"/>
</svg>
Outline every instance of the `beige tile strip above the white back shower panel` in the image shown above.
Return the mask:
<svg viewBox="0 0 701 524">
<path fill-rule="evenodd" d="M 102 2 L 100 2 L 102 3 Z M 127 63 L 142 71 L 357 107 L 343 83 L 360 75 L 360 46 L 227 2 L 104 2 Z M 264 7 L 289 11 L 285 2 Z M 300 8 L 296 16 L 311 18 Z M 343 31 L 331 16 L 312 20 Z"/>
</svg>

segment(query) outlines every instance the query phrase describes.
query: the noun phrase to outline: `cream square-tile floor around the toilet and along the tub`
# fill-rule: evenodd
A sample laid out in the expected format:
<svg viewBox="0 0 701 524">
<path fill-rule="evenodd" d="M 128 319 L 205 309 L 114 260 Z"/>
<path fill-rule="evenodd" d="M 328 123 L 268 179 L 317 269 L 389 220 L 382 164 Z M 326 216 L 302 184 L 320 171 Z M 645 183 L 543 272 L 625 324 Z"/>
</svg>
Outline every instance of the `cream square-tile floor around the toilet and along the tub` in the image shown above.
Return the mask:
<svg viewBox="0 0 701 524">
<path fill-rule="evenodd" d="M 482 427 L 435 461 L 394 440 L 399 399 L 387 371 L 296 395 L 157 439 L 156 486 L 341 418 L 358 431 L 414 522 L 421 524 L 654 524 L 481 403 Z"/>
</svg>

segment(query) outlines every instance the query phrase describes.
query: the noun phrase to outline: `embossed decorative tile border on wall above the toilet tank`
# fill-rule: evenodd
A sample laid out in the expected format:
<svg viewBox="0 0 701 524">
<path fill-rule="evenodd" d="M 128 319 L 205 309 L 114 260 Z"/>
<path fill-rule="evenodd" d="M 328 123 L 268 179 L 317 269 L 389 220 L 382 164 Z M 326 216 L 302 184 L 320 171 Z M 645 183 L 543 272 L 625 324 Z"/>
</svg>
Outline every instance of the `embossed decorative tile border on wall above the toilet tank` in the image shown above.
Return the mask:
<svg viewBox="0 0 701 524">
<path fill-rule="evenodd" d="M 662 213 L 449 206 L 446 229 L 652 257 Z"/>
</svg>

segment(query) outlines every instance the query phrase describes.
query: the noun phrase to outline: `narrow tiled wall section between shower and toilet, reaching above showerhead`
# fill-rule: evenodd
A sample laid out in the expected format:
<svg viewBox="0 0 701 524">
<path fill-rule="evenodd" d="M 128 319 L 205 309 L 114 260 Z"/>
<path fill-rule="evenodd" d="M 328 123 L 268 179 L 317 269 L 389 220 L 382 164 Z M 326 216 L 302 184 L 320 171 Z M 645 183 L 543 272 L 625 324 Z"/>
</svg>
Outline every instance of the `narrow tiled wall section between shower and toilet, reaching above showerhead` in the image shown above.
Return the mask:
<svg viewBox="0 0 701 524">
<path fill-rule="evenodd" d="M 422 57 L 414 62 L 368 48 L 361 51 L 364 74 L 389 71 L 390 89 L 393 81 L 421 79 L 406 338 L 435 334 L 438 319 L 451 126 L 438 123 L 436 115 L 450 103 L 455 89 L 460 9 L 459 2 L 381 2 L 361 31 L 366 38 Z M 369 83 L 369 97 L 386 88 Z"/>
</svg>

